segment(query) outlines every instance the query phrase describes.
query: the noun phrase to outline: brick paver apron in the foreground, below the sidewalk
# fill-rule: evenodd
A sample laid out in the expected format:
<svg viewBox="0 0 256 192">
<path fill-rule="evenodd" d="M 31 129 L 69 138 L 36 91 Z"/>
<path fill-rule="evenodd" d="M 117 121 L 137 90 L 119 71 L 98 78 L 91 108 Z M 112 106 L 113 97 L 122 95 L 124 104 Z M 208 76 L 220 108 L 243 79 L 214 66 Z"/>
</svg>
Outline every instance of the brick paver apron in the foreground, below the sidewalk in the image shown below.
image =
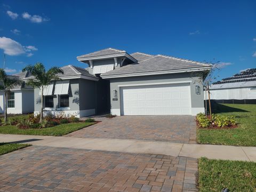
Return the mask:
<svg viewBox="0 0 256 192">
<path fill-rule="evenodd" d="M 198 191 L 197 159 L 31 146 L 0 158 L 0 191 Z"/>
</svg>

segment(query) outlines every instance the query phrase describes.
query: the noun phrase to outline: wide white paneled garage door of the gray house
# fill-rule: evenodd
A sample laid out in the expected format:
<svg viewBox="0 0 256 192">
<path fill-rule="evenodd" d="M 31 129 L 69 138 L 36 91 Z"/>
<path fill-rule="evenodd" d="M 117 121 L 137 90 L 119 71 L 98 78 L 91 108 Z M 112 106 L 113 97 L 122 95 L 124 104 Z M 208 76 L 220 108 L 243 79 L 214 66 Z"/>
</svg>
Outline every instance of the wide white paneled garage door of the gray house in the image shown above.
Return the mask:
<svg viewBox="0 0 256 192">
<path fill-rule="evenodd" d="M 121 87 L 122 115 L 191 115 L 189 83 Z"/>
</svg>

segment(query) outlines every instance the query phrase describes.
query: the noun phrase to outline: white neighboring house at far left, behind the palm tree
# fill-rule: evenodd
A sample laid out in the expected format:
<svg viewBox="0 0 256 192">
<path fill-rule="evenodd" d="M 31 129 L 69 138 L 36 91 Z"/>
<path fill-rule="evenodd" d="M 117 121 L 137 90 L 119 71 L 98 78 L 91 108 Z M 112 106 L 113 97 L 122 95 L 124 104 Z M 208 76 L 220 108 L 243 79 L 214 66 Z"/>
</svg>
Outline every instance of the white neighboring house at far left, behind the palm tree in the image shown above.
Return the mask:
<svg viewBox="0 0 256 192">
<path fill-rule="evenodd" d="M 24 73 L 18 73 L 9 75 L 11 78 L 19 78 L 21 81 L 30 76 L 25 71 Z M 10 90 L 7 96 L 7 113 L 8 114 L 26 114 L 33 113 L 34 111 L 34 89 L 31 86 L 22 82 L 21 85 L 16 85 Z M 0 113 L 4 113 L 4 92 L 0 91 Z"/>
</svg>

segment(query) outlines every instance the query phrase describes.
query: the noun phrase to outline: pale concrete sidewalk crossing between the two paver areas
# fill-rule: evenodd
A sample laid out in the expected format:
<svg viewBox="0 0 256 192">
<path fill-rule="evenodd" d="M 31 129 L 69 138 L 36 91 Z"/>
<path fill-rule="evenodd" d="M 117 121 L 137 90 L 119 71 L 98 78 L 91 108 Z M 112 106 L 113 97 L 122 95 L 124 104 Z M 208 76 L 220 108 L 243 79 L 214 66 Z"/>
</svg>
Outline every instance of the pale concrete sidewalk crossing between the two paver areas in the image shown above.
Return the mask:
<svg viewBox="0 0 256 192">
<path fill-rule="evenodd" d="M 194 158 L 207 157 L 211 159 L 229 159 L 256 162 L 256 147 L 16 134 L 0 134 L 0 142 L 18 142 L 30 143 L 31 145 L 35 146 L 107 150 L 126 153 L 160 154 Z"/>
</svg>

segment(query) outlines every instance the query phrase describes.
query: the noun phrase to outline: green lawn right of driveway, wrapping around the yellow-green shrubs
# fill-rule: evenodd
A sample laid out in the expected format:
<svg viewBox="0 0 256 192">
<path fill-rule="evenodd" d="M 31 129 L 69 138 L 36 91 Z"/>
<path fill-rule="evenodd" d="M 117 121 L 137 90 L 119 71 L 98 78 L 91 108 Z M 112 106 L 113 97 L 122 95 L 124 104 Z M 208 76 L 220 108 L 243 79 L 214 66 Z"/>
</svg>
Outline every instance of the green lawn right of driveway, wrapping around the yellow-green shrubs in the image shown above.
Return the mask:
<svg viewBox="0 0 256 192">
<path fill-rule="evenodd" d="M 256 146 L 256 105 L 225 104 L 213 106 L 214 113 L 234 115 L 236 129 L 197 129 L 197 142 L 213 145 Z"/>
</svg>

